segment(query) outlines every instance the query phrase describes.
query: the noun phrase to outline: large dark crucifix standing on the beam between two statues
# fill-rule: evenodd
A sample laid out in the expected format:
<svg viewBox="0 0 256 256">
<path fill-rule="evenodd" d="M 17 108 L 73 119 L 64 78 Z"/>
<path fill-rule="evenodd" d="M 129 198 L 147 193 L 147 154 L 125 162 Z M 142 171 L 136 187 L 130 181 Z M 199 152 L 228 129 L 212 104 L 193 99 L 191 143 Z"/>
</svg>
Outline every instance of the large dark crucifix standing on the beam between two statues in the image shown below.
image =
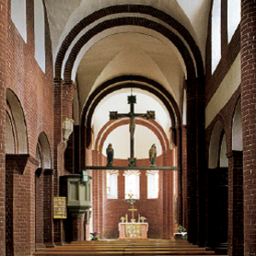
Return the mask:
<svg viewBox="0 0 256 256">
<path fill-rule="evenodd" d="M 128 104 L 130 104 L 129 113 L 118 113 L 117 111 L 109 112 L 109 119 L 130 118 L 130 158 L 128 158 L 128 166 L 137 166 L 136 158 L 134 157 L 134 131 L 135 119 L 137 117 L 146 117 L 147 119 L 154 119 L 154 111 L 150 110 L 147 113 L 134 113 L 134 104 L 136 104 L 136 96 L 128 96 Z"/>
</svg>

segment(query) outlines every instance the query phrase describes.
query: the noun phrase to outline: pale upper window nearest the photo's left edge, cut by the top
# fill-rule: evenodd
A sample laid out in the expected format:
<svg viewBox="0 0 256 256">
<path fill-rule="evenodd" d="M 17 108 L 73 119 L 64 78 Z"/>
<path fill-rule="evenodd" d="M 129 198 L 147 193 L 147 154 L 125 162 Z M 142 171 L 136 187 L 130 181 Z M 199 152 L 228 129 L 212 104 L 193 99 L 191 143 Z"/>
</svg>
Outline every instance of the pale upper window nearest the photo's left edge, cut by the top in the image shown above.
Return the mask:
<svg viewBox="0 0 256 256">
<path fill-rule="evenodd" d="M 11 19 L 26 43 L 26 0 L 11 1 Z"/>
</svg>

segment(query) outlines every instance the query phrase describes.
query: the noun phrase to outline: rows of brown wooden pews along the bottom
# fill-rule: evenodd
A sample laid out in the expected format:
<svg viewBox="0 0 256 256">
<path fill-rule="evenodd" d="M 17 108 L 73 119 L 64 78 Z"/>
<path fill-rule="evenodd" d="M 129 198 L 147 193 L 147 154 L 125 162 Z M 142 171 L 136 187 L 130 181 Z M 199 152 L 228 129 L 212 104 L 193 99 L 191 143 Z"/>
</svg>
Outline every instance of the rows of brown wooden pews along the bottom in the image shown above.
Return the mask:
<svg viewBox="0 0 256 256">
<path fill-rule="evenodd" d="M 188 241 L 148 240 L 148 241 L 73 241 L 64 246 L 46 248 L 44 252 L 36 252 L 33 255 L 215 255 L 213 251 L 207 251 L 204 247 L 190 244 Z"/>
</svg>

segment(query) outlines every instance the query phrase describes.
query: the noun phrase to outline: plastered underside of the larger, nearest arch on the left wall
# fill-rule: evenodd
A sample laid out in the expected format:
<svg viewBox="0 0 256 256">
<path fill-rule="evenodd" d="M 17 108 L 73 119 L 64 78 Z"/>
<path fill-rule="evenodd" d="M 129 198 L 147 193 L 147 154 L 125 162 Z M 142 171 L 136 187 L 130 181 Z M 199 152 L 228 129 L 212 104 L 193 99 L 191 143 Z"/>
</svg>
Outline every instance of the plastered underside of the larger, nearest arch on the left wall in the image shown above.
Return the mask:
<svg viewBox="0 0 256 256">
<path fill-rule="evenodd" d="M 9 89 L 6 90 L 6 100 L 9 104 L 9 110 L 14 120 L 15 127 L 13 127 L 13 129 L 15 129 L 17 136 L 17 153 L 27 154 L 28 145 L 26 134 L 26 122 L 20 101 L 18 97 L 15 95 L 15 93 Z"/>
</svg>

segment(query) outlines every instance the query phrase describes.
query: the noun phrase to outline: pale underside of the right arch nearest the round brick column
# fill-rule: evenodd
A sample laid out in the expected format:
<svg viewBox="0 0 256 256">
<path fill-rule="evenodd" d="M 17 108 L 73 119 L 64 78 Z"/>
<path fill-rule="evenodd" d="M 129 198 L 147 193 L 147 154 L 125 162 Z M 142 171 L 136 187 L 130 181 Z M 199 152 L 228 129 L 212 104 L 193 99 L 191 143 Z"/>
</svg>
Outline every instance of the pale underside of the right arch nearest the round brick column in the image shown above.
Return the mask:
<svg viewBox="0 0 256 256">
<path fill-rule="evenodd" d="M 232 150 L 242 151 L 241 98 L 236 104 L 232 123 Z"/>
</svg>

